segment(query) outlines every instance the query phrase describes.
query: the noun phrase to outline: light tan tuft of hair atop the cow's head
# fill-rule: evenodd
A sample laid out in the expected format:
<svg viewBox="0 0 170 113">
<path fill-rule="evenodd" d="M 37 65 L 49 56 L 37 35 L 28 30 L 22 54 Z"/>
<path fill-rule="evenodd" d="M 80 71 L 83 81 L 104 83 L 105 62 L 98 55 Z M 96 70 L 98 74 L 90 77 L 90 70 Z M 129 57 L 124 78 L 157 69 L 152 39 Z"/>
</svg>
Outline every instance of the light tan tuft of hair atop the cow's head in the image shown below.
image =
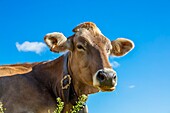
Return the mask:
<svg viewBox="0 0 170 113">
<path fill-rule="evenodd" d="M 73 32 L 79 32 L 81 29 L 87 29 L 94 34 L 102 34 L 100 29 L 93 22 L 84 22 L 73 29 Z"/>
</svg>

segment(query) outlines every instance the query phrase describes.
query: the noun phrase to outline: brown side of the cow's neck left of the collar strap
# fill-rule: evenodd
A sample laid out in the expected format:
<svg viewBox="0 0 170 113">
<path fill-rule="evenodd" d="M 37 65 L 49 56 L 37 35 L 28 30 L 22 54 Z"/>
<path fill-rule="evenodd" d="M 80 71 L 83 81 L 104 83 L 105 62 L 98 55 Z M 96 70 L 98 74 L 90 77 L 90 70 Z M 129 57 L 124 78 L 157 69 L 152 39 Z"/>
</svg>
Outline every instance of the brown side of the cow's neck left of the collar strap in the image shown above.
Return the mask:
<svg viewBox="0 0 170 113">
<path fill-rule="evenodd" d="M 63 78 L 63 62 L 64 56 L 55 60 L 42 62 L 33 67 L 34 79 L 38 81 L 40 86 L 49 89 L 54 96 L 62 98 L 61 79 Z M 63 98 L 62 98 L 63 99 Z"/>
</svg>

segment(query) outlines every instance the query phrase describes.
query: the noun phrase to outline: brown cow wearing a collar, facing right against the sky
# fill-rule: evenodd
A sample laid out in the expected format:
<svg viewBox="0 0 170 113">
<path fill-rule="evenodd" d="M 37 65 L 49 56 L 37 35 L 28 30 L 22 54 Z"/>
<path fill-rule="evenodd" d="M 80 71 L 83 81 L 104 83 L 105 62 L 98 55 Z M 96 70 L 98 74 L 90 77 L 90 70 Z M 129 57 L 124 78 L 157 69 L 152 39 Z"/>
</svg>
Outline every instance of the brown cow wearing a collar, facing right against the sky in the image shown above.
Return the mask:
<svg viewBox="0 0 170 113">
<path fill-rule="evenodd" d="M 117 74 L 109 56 L 124 56 L 134 48 L 126 38 L 110 41 L 92 22 L 81 23 L 66 38 L 48 33 L 45 43 L 52 52 L 64 52 L 59 58 L 41 62 L 28 73 L 0 77 L 0 101 L 6 113 L 48 113 L 64 102 L 63 113 L 76 104 L 82 94 L 113 91 Z M 86 107 L 79 113 L 87 113 Z"/>
</svg>

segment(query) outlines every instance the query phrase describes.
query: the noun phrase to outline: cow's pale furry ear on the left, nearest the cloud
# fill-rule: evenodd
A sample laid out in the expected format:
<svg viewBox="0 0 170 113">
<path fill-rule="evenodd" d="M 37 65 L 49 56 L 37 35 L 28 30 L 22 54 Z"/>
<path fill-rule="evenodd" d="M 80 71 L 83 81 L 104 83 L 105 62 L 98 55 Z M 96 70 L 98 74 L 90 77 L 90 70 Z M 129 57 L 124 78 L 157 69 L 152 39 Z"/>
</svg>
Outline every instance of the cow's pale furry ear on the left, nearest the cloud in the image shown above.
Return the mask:
<svg viewBox="0 0 170 113">
<path fill-rule="evenodd" d="M 58 53 L 72 49 L 72 42 L 59 32 L 46 34 L 44 41 L 52 52 Z"/>
</svg>

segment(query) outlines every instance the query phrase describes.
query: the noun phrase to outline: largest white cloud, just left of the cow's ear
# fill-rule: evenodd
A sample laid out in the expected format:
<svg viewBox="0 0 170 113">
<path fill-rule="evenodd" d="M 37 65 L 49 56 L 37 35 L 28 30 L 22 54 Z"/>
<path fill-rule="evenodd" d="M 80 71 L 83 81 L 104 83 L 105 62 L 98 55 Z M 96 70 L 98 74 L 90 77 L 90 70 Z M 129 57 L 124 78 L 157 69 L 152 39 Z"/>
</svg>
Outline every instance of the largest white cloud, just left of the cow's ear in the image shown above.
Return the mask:
<svg viewBox="0 0 170 113">
<path fill-rule="evenodd" d="M 42 42 L 29 42 L 25 41 L 22 44 L 19 44 L 16 42 L 16 47 L 18 51 L 23 51 L 23 52 L 35 52 L 36 54 L 40 54 L 46 49 L 46 44 Z"/>
</svg>

